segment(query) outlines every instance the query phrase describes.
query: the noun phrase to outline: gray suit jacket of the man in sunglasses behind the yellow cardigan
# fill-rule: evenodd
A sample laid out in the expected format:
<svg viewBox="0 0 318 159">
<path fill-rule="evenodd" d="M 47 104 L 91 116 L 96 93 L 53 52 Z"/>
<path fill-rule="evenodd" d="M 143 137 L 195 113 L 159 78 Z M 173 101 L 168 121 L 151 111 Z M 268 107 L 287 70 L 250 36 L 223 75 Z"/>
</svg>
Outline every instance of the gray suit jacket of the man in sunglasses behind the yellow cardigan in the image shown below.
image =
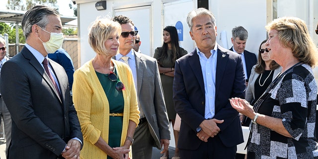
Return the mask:
<svg viewBox="0 0 318 159">
<path fill-rule="evenodd" d="M 155 140 L 154 147 L 161 149 L 160 139 L 170 140 L 170 130 L 157 60 L 136 51 L 134 54 L 138 105 L 147 118 L 150 133 Z"/>
</svg>

